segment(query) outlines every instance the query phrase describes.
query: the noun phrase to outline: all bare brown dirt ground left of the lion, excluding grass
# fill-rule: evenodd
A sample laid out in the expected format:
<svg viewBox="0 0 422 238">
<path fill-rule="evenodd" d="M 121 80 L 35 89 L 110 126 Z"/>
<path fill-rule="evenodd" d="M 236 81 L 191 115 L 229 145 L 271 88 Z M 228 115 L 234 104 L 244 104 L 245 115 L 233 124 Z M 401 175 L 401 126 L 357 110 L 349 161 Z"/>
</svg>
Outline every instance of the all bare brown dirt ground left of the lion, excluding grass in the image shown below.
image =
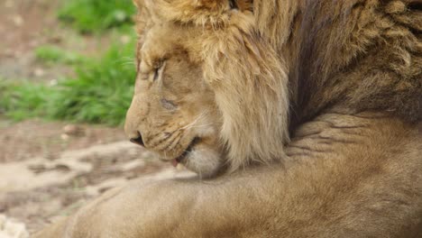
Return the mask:
<svg viewBox="0 0 422 238">
<path fill-rule="evenodd" d="M 0 1 L 0 79 L 43 83 L 69 75 L 70 69 L 37 62 L 32 50 L 52 43 L 95 54 L 98 41 L 107 41 L 90 36 L 73 41 L 75 33 L 56 20 L 59 3 Z M 27 237 L 16 235 L 16 229 L 25 225 L 32 233 L 130 179 L 177 172 L 127 142 L 122 128 L 41 120 L 14 123 L 0 114 L 0 237 Z"/>
</svg>

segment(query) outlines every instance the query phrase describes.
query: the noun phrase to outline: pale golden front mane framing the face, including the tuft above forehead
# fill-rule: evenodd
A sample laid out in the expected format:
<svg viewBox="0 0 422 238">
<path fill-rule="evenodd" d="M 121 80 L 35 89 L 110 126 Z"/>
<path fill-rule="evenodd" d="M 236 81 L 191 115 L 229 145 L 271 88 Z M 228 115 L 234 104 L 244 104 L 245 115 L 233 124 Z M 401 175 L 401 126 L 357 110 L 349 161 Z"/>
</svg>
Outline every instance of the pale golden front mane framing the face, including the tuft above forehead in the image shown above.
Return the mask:
<svg viewBox="0 0 422 238">
<path fill-rule="evenodd" d="M 257 31 L 252 1 L 237 1 L 236 9 L 231 1 L 142 2 L 164 21 L 205 32 L 200 56 L 223 118 L 230 169 L 281 160 L 289 142 L 288 77 L 284 60 Z"/>
</svg>

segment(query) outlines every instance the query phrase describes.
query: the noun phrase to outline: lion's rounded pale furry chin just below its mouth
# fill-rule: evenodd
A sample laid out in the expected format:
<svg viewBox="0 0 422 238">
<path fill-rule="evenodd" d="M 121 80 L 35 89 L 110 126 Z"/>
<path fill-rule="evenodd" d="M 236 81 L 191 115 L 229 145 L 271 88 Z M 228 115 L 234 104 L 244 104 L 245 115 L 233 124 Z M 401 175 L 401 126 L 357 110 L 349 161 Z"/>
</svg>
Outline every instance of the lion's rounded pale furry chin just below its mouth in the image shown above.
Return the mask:
<svg viewBox="0 0 422 238">
<path fill-rule="evenodd" d="M 223 168 L 222 156 L 218 151 L 206 145 L 197 144 L 179 160 L 187 169 L 198 174 L 200 178 L 212 178 Z"/>
</svg>

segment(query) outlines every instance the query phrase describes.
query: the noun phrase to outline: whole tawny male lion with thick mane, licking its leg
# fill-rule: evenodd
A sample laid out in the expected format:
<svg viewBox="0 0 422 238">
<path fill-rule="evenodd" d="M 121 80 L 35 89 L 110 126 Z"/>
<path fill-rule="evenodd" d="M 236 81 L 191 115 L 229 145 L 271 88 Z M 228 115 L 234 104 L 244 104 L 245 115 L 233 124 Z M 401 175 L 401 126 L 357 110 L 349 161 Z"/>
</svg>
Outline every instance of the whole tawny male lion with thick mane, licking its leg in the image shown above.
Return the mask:
<svg viewBox="0 0 422 238">
<path fill-rule="evenodd" d="M 419 237 L 417 0 L 135 0 L 133 181 L 36 237 Z"/>
</svg>

